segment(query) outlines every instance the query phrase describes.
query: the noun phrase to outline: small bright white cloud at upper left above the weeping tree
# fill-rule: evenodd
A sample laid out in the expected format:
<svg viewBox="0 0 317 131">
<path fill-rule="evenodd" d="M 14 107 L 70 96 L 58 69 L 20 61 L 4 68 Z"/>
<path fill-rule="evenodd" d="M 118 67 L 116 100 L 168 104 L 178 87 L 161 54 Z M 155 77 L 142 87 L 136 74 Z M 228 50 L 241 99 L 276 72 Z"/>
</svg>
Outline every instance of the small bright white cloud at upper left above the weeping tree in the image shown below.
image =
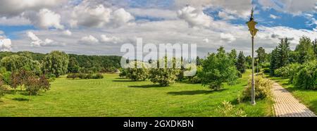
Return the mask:
<svg viewBox="0 0 317 131">
<path fill-rule="evenodd" d="M 49 29 L 50 27 L 54 27 L 56 29 L 64 28 L 64 26 L 61 25 L 61 15 L 47 8 L 39 10 L 39 13 L 37 14 L 28 13 L 26 16 L 34 25 L 37 25 L 37 27 L 44 29 Z"/>
</svg>

